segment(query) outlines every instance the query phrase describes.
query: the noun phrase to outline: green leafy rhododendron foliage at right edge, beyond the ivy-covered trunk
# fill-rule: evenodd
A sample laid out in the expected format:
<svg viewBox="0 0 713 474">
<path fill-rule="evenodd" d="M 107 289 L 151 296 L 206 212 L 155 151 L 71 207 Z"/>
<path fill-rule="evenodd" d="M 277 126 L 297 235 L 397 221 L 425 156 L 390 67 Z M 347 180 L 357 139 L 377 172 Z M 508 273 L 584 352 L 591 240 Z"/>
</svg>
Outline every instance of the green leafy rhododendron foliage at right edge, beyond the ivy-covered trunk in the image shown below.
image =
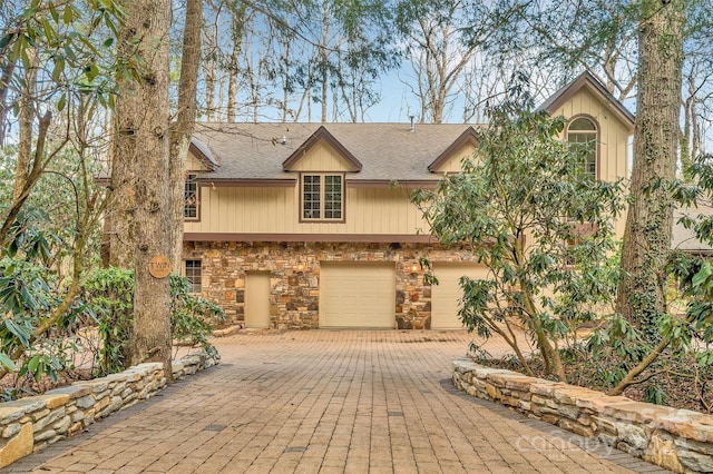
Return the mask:
<svg viewBox="0 0 713 474">
<path fill-rule="evenodd" d="M 699 205 L 710 209 L 713 192 L 710 157 L 701 157 L 687 171 L 697 185 L 658 179 L 646 190 L 663 190 L 683 209 Z M 695 217 L 686 213 L 680 224 L 692 229 L 700 241 L 713 243 L 710 211 Z M 612 317 L 588 339 L 588 355 L 594 362 L 606 361 L 606 373 L 600 382 L 611 394 L 642 385 L 646 399 L 663 403 L 667 394 L 648 381 L 660 374 L 674 374 L 694 381 L 701 404 L 710 411 L 713 404 L 705 402 L 704 395 L 710 388 L 705 382 L 700 382 L 700 374 L 710 373 L 713 367 L 713 267 L 710 257 L 674 249 L 655 256 L 652 261 L 658 264 L 648 270 L 656 275 L 656 292 L 664 296 L 664 309 L 657 314 L 655 326 L 636 327 L 621 316 Z M 683 306 L 676 305 L 677 299 Z M 652 337 L 652 330 L 655 337 Z"/>
</svg>

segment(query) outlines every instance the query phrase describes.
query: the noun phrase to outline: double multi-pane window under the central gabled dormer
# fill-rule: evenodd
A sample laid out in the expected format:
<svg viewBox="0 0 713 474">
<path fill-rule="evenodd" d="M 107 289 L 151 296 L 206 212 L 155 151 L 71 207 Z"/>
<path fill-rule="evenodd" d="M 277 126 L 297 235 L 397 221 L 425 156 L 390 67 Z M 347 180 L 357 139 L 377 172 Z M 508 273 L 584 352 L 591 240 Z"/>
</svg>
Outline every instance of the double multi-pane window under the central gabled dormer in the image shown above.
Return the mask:
<svg viewBox="0 0 713 474">
<path fill-rule="evenodd" d="M 344 220 L 344 175 L 302 175 L 302 220 Z"/>
</svg>

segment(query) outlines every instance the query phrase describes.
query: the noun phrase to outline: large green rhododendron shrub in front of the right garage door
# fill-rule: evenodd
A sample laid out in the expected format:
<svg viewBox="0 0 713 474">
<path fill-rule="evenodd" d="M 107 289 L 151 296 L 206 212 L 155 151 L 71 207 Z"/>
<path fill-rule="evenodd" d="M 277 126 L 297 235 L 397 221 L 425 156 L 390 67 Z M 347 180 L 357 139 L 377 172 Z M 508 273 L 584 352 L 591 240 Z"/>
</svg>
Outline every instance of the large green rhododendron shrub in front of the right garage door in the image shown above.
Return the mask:
<svg viewBox="0 0 713 474">
<path fill-rule="evenodd" d="M 512 325 L 522 325 L 561 378 L 558 342 L 613 296 L 604 264 L 615 250 L 621 182 L 586 175 L 577 149 L 557 138 L 565 119 L 530 109 L 529 97 L 511 90 L 490 110 L 478 155 L 412 200 L 442 244 L 468 246 L 489 270 L 487 279 L 461 278 L 468 330 L 499 334 L 520 355 Z"/>
</svg>

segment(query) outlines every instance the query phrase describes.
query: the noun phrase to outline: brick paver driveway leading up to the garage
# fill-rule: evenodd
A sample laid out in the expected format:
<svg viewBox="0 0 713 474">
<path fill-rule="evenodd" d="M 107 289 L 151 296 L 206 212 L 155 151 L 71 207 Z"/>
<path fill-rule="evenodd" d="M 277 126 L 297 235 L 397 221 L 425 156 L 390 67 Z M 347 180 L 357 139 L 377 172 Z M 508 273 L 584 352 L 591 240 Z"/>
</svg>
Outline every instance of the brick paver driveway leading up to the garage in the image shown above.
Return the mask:
<svg viewBox="0 0 713 474">
<path fill-rule="evenodd" d="M 657 471 L 453 391 L 450 361 L 469 340 L 416 330 L 221 338 L 219 366 L 6 472 Z"/>
</svg>

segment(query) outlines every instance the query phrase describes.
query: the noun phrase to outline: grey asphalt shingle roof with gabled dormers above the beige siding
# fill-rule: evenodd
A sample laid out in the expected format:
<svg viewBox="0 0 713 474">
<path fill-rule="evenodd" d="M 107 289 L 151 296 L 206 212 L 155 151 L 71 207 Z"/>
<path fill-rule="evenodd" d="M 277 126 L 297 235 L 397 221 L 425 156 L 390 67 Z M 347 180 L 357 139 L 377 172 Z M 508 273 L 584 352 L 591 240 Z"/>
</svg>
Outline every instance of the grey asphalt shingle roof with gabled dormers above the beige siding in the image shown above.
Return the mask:
<svg viewBox="0 0 713 474">
<path fill-rule="evenodd" d="M 470 125 L 417 124 L 208 124 L 196 125 L 194 137 L 219 166 L 212 180 L 293 179 L 283 170 L 291 157 L 324 127 L 362 164 L 348 180 L 436 180 L 428 166 Z"/>
</svg>

